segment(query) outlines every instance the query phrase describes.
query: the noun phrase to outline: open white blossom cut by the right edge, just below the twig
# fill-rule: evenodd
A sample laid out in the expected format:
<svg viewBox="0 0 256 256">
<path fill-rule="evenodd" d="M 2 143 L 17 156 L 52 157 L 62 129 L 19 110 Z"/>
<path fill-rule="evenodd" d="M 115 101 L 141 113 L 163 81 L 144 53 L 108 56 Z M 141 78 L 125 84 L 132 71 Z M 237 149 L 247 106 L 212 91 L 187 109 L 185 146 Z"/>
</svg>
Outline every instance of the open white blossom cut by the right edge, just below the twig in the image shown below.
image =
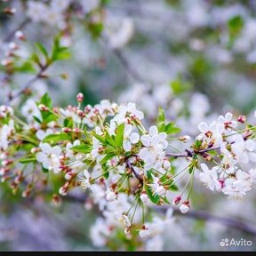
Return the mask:
<svg viewBox="0 0 256 256">
<path fill-rule="evenodd" d="M 239 163 L 247 164 L 249 161 L 256 163 L 255 142 L 251 139 L 244 140 L 243 135 L 236 134 L 233 137 L 234 143 L 231 148 Z"/>
</svg>

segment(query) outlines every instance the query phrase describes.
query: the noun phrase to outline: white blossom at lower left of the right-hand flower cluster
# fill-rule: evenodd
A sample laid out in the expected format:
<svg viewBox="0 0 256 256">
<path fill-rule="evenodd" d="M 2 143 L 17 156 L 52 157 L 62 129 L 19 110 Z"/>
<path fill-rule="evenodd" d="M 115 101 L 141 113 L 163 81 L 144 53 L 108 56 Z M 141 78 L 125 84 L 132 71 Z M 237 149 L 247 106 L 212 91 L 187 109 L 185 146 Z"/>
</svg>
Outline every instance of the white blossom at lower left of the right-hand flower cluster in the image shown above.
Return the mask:
<svg viewBox="0 0 256 256">
<path fill-rule="evenodd" d="M 201 169 L 203 172 L 199 173 L 199 177 L 206 188 L 209 188 L 212 191 L 214 191 L 214 189 L 220 191 L 221 186 L 217 174 L 220 167 L 214 166 L 212 170 L 210 170 L 206 164 L 201 164 Z"/>
</svg>

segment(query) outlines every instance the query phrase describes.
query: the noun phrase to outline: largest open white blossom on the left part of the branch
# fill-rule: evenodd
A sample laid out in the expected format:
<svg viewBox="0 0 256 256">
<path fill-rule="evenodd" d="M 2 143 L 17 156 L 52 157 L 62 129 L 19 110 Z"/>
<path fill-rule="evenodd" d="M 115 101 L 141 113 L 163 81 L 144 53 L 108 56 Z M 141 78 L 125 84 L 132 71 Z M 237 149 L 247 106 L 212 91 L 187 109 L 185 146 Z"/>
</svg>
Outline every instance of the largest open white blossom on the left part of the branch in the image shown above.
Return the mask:
<svg viewBox="0 0 256 256">
<path fill-rule="evenodd" d="M 41 152 L 36 153 L 36 160 L 43 164 L 43 167 L 52 170 L 55 173 L 60 172 L 60 154 L 59 146 L 51 147 L 48 143 L 40 143 Z"/>
</svg>

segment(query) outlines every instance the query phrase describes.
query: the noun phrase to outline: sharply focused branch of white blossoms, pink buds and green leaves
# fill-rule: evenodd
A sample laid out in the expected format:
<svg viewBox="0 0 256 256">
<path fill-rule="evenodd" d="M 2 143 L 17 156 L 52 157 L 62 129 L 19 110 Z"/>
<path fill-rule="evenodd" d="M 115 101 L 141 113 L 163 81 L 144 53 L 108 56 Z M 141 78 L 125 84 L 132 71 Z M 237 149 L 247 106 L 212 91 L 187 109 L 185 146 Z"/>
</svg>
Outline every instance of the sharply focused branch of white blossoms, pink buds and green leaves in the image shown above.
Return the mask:
<svg viewBox="0 0 256 256">
<path fill-rule="evenodd" d="M 228 113 L 210 125 L 199 124 L 201 133 L 195 142 L 184 153 L 176 153 L 168 140 L 174 140 L 172 134 L 180 129 L 166 122 L 162 108 L 158 123 L 147 130 L 144 115 L 134 103 L 101 100 L 93 107 L 82 107 L 82 93 L 76 100 L 77 106 L 52 108 L 52 100 L 44 94 L 33 104 L 25 102 L 36 106 L 33 118 L 15 116 L 12 108 L 2 106 L 0 173 L 13 192 L 23 190 L 22 196 L 28 196 L 38 183 L 47 186 L 50 177 L 55 177 L 61 196 L 76 187 L 89 189 L 85 207 L 96 204 L 103 214 L 97 220 L 100 226 L 92 228 L 100 244 L 107 243 L 108 230 L 113 228 L 123 227 L 125 236 L 153 236 L 147 216 L 154 204 L 168 205 L 174 198 L 172 204 L 180 204 L 180 212 L 187 213 L 197 172 L 207 188 L 232 197 L 244 196 L 255 185 L 256 169 L 243 169 L 256 156 L 255 126 L 247 124 L 245 116 L 235 120 Z M 183 146 L 187 139 L 183 135 L 177 140 Z M 174 163 L 179 159 L 187 164 L 176 170 Z M 54 202 L 58 197 L 52 194 Z M 106 234 L 101 233 L 102 226 Z"/>
</svg>

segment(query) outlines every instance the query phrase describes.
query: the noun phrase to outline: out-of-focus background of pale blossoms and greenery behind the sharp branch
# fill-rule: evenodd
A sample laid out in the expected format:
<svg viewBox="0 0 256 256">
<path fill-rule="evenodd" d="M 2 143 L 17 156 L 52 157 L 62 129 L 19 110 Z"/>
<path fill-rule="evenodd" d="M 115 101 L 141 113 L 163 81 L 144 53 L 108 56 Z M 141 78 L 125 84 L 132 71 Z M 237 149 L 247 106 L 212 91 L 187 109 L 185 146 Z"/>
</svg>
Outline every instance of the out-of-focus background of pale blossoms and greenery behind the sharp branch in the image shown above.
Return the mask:
<svg viewBox="0 0 256 256">
<path fill-rule="evenodd" d="M 50 3 L 55 1 L 57 7 Z M 58 12 L 61 2 L 68 7 Z M 15 15 L 6 14 L 6 8 L 15 8 Z M 161 106 L 184 134 L 196 136 L 197 124 L 227 111 L 255 123 L 255 14 L 253 0 L 0 1 L 0 60 L 17 40 L 12 36 L 17 28 L 29 44 L 40 42 L 47 49 L 61 32 L 71 57 L 53 65 L 49 79 L 36 81 L 35 99 L 49 92 L 54 105 L 64 107 L 83 92 L 84 104 L 133 101 L 148 125 Z M 31 46 L 22 43 L 18 51 L 23 65 Z M 23 66 L 11 74 L 0 68 L 0 102 L 10 88 L 19 90 L 33 76 Z M 1 251 L 108 250 L 93 243 L 97 210 L 86 211 L 86 205 L 72 200 L 60 207 L 40 196 L 20 200 L 8 189 L 1 184 Z M 192 202 L 195 209 L 256 225 L 253 192 L 234 201 L 196 184 Z M 251 240 L 252 246 L 220 247 L 226 237 Z M 146 243 L 143 250 L 255 251 L 255 237 L 223 223 L 174 216 L 161 241 L 154 247 Z"/>
</svg>

